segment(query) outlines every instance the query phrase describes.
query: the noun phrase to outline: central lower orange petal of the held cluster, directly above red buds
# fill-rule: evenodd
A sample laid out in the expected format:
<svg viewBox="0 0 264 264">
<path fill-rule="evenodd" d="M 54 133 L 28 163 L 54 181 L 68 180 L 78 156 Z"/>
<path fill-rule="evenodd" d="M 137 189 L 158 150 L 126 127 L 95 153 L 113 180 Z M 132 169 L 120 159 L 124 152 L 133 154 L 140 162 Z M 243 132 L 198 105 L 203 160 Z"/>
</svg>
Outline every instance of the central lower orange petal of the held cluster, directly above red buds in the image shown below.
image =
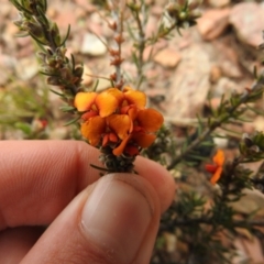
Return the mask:
<svg viewBox="0 0 264 264">
<path fill-rule="evenodd" d="M 132 121 L 128 114 L 111 114 L 107 117 L 107 123 L 119 139 L 124 140 L 129 134 Z"/>
</svg>

